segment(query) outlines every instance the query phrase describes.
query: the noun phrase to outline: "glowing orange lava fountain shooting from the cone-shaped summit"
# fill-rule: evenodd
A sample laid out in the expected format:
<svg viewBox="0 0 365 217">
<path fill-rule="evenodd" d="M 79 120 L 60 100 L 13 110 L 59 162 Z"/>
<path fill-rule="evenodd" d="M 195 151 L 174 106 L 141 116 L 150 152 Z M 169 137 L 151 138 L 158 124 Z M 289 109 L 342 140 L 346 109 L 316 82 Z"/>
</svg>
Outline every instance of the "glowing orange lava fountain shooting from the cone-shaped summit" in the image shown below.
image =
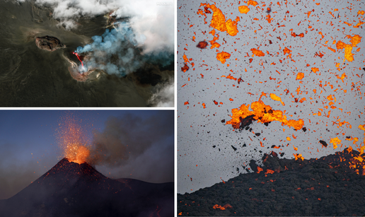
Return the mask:
<svg viewBox="0 0 365 217">
<path fill-rule="evenodd" d="M 70 162 L 85 163 L 90 155 L 86 147 L 86 133 L 71 117 L 66 117 L 59 128 L 59 146 L 63 149 L 64 158 Z"/>
</svg>

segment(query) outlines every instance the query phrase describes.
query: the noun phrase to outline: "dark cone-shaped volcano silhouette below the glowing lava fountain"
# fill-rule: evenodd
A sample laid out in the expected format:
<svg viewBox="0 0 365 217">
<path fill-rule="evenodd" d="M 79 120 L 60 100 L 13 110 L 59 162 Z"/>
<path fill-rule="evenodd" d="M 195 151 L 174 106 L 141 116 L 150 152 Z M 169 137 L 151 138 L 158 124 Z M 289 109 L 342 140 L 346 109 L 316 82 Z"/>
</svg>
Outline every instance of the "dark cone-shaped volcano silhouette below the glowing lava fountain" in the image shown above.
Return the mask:
<svg viewBox="0 0 365 217">
<path fill-rule="evenodd" d="M 153 186 L 151 186 L 153 187 Z M 173 191 L 170 204 L 173 203 Z M 160 200 L 159 200 L 160 199 Z M 168 199 L 166 199 L 168 200 Z M 110 180 L 87 163 L 64 158 L 10 199 L 0 216 L 170 216 L 166 201 L 135 185 Z"/>
</svg>

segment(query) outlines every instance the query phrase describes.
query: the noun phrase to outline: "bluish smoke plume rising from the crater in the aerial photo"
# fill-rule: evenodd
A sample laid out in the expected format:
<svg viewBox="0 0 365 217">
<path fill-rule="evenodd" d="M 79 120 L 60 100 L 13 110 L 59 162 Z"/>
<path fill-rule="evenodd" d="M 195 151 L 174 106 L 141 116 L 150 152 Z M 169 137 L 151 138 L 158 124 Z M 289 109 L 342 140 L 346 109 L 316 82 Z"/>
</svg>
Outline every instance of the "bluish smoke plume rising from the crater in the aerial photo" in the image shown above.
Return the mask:
<svg viewBox="0 0 365 217">
<path fill-rule="evenodd" d="M 126 22 L 115 23 L 114 29 L 107 29 L 103 35 L 95 35 L 92 39 L 91 44 L 76 49 L 77 53 L 87 55 L 84 59 L 85 66 L 79 66 L 81 73 L 103 69 L 108 74 L 125 76 L 145 63 L 167 66 L 173 61 L 173 53 L 164 51 L 141 54 L 141 50 L 136 48 L 137 37 L 131 25 Z"/>
</svg>

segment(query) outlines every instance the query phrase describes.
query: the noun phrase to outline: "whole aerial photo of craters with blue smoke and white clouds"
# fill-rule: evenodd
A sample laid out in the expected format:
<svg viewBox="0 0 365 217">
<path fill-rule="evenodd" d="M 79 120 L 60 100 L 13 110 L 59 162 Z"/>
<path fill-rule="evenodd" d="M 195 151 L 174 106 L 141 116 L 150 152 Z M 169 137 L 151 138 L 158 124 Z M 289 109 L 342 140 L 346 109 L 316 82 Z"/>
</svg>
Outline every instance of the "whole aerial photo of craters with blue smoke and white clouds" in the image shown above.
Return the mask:
<svg viewBox="0 0 365 217">
<path fill-rule="evenodd" d="M 0 2 L 0 106 L 173 107 L 174 7 Z"/>
</svg>

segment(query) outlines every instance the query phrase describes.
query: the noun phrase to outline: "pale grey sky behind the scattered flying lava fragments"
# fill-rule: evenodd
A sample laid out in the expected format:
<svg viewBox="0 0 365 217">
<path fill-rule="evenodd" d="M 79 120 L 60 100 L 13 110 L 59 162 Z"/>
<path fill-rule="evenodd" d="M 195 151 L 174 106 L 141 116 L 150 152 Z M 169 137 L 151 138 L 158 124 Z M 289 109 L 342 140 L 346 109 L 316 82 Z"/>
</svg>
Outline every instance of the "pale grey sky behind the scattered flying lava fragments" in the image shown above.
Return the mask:
<svg viewBox="0 0 365 217">
<path fill-rule="evenodd" d="M 194 192 L 236 177 L 245 172 L 242 165 L 263 153 L 285 153 L 284 158 L 294 158 L 293 153 L 301 153 L 308 159 L 342 151 L 348 146 L 364 146 L 364 131 L 358 128 L 359 124 L 364 124 L 364 38 L 352 48 L 353 61 L 345 60 L 344 49 L 336 48 L 339 40 L 352 45 L 347 35 L 364 35 L 361 34 L 364 24 L 354 28 L 359 21 L 365 22 L 364 15 L 357 16 L 359 10 L 365 10 L 364 2 L 285 2 L 257 1 L 257 6 L 248 6 L 245 1 L 239 4 L 216 1 L 216 8 L 222 11 L 226 20 L 239 17 L 238 33 L 231 36 L 209 26 L 213 14 L 210 8 L 212 13 L 206 13 L 207 23 L 204 23 L 204 16 L 197 13 L 199 8 L 204 12 L 204 6 L 200 6 L 202 2 L 178 1 L 178 193 Z M 238 6 L 248 6 L 250 11 L 240 13 Z M 271 13 L 266 12 L 269 6 Z M 309 16 L 308 11 L 311 11 Z M 272 18 L 271 23 L 267 20 L 268 15 Z M 209 33 L 212 30 L 215 30 L 215 36 L 219 35 L 216 42 L 220 47 L 214 49 L 210 49 L 209 42 L 214 37 Z M 303 33 L 304 36 L 294 37 L 291 33 Z M 197 48 L 198 42 L 203 40 L 208 42 L 207 49 Z M 332 44 L 334 40 L 335 44 Z M 291 58 L 284 54 L 285 47 L 291 50 Z M 253 48 L 265 56 L 253 57 Z M 216 54 L 222 51 L 231 54 L 224 64 L 216 59 Z M 183 54 L 191 59 L 187 63 L 190 69 L 185 73 L 181 71 Z M 319 71 L 314 73 L 311 70 L 314 67 Z M 304 78 L 296 80 L 299 72 Z M 342 82 L 343 73 L 346 77 Z M 222 77 L 230 74 L 243 81 L 238 84 L 238 81 Z M 288 94 L 286 90 L 289 90 Z M 285 111 L 287 119 L 303 119 L 308 130 L 295 131 L 280 122 L 272 122 L 268 127 L 253 122 L 250 127 L 261 134 L 255 136 L 253 132 L 233 130 L 230 124 L 221 122 L 231 119 L 229 115 L 233 108 L 257 101 L 262 92 L 267 93 L 267 97 L 262 97 L 265 105 Z M 285 105 L 272 100 L 270 93 L 281 97 Z M 329 95 L 336 100 L 328 100 Z M 301 103 L 295 102 L 294 98 L 306 100 Z M 215 105 L 214 100 L 223 104 Z M 330 105 L 330 102 L 334 104 Z M 344 121 L 349 124 L 339 126 L 338 123 Z M 353 144 L 353 141 L 345 140 L 346 136 L 357 137 L 359 141 Z M 330 139 L 335 137 L 342 141 L 342 147 L 333 148 Z M 326 141 L 328 147 L 322 148 L 319 140 Z M 247 146 L 243 147 L 244 143 Z M 271 148 L 283 144 L 281 149 Z M 231 146 L 237 148 L 236 151 Z M 294 147 L 298 151 L 294 151 Z"/>
</svg>

